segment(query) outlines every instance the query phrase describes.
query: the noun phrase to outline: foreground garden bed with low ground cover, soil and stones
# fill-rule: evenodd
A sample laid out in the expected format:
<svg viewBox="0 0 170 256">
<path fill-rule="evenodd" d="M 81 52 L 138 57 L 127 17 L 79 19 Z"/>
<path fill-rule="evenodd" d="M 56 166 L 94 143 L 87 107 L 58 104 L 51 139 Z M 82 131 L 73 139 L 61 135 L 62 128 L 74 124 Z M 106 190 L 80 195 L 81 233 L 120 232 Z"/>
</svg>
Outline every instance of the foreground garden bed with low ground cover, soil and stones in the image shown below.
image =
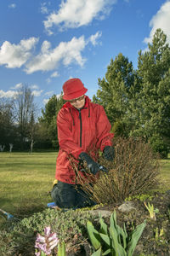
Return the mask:
<svg viewBox="0 0 170 256">
<path fill-rule="evenodd" d="M 148 198 L 147 198 L 148 197 Z M 105 205 L 98 208 L 98 211 L 111 211 L 116 209 L 117 224 L 126 224 L 127 233 L 144 222 L 146 226 L 135 249 L 134 256 L 139 255 L 163 255 L 168 256 L 170 252 L 170 191 L 166 193 L 155 192 L 152 196 L 141 195 L 139 198 L 131 199 L 135 205 L 132 212 L 120 212 L 121 204 Z M 153 204 L 158 209 L 156 220 L 150 218 L 150 214 L 144 201 Z M 96 210 L 95 210 L 96 211 Z M 70 210 L 68 212 L 46 209 L 33 214 L 30 218 L 24 218 L 20 222 L 7 221 L 0 232 L 0 255 L 34 255 L 35 240 L 37 232 L 43 234 L 47 225 L 56 232 L 61 240 L 65 241 L 67 255 L 91 255 L 94 251 L 88 240 L 86 230 L 87 220 L 91 220 L 99 228 L 99 216 L 94 216 L 87 209 L 85 211 Z M 105 223 L 110 224 L 110 217 L 105 217 Z M 54 255 L 57 248 L 54 249 Z"/>
</svg>

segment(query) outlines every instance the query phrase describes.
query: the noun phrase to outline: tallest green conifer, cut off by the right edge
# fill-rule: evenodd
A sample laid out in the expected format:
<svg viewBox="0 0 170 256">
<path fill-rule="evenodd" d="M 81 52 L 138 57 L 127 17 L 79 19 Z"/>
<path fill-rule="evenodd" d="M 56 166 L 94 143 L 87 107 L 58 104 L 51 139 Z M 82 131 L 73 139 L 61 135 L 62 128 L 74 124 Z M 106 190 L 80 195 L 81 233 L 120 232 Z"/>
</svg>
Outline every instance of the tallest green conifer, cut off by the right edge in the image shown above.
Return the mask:
<svg viewBox="0 0 170 256">
<path fill-rule="evenodd" d="M 165 156 L 170 142 L 170 47 L 161 29 L 156 30 L 148 50 L 139 51 L 138 76 L 139 120 L 133 133 L 143 135 Z"/>
</svg>

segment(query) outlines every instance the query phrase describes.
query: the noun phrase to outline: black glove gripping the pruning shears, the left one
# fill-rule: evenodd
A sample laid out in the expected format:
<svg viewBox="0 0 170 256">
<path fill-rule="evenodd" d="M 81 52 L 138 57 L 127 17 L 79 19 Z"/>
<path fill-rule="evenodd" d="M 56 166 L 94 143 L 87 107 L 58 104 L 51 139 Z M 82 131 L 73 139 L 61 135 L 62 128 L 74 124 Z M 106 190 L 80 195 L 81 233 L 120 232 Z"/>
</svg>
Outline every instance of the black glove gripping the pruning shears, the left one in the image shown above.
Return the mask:
<svg viewBox="0 0 170 256">
<path fill-rule="evenodd" d="M 97 172 L 99 172 L 99 169 L 101 169 L 100 165 L 96 163 L 87 153 L 82 152 L 79 154 L 79 158 L 80 160 L 85 160 L 87 162 L 88 169 L 92 174 L 95 175 Z"/>
</svg>

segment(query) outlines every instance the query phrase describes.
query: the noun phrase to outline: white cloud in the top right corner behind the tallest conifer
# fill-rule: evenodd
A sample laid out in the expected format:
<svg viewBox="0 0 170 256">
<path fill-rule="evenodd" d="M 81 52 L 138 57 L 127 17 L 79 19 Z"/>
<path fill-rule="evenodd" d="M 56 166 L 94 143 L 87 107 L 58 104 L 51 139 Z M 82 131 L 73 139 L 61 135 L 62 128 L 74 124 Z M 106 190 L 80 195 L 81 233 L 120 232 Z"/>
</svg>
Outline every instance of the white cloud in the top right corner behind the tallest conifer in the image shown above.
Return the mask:
<svg viewBox="0 0 170 256">
<path fill-rule="evenodd" d="M 159 9 L 156 15 L 150 20 L 150 27 L 152 27 L 150 36 L 149 38 L 144 38 L 144 43 L 151 43 L 156 29 L 161 28 L 161 30 L 167 34 L 167 42 L 170 44 L 170 1 L 161 5 L 161 9 Z"/>
</svg>

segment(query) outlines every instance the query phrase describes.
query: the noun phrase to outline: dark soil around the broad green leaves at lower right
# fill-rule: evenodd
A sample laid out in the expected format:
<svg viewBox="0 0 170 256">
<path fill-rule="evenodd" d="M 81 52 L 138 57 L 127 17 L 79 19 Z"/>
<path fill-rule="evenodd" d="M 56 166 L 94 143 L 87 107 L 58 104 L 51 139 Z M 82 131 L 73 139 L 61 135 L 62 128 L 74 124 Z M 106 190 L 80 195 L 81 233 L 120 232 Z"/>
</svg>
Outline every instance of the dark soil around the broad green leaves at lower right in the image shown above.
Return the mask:
<svg viewBox="0 0 170 256">
<path fill-rule="evenodd" d="M 145 200 L 150 205 L 153 204 L 154 209 L 158 209 L 156 213 L 156 220 L 150 218 L 150 213 L 144 206 L 144 201 L 134 199 L 136 210 L 132 212 L 120 212 L 117 205 L 105 205 L 98 210 L 105 210 L 113 212 L 116 209 L 117 224 L 122 226 L 126 224 L 127 234 L 132 231 L 133 227 L 142 224 L 146 219 L 146 226 L 139 238 L 137 247 L 133 253 L 133 256 L 169 256 L 170 255 L 170 190 L 166 193 L 156 192 L 153 197 Z M 105 218 L 105 223 L 110 225 L 110 217 Z M 96 228 L 97 229 L 97 228 Z M 99 227 L 98 227 L 99 230 Z M 74 249 L 69 250 L 68 256 L 83 256 L 91 255 L 92 250 L 90 244 L 86 241 L 81 246 L 76 246 Z"/>
</svg>

